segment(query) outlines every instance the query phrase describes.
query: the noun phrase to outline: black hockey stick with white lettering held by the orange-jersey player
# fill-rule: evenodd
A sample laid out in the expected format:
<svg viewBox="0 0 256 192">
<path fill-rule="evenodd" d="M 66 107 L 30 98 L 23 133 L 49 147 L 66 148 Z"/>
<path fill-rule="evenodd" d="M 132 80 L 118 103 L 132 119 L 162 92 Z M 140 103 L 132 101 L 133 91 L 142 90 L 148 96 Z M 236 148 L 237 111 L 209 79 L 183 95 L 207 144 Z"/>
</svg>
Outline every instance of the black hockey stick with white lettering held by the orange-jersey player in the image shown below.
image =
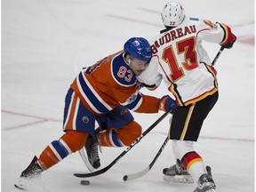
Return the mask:
<svg viewBox="0 0 256 192">
<path fill-rule="evenodd" d="M 132 144 L 126 148 L 119 156 L 116 157 L 116 159 L 114 159 L 110 164 L 108 164 L 108 166 L 104 167 L 103 169 L 99 170 L 99 171 L 96 171 L 96 172 L 88 172 L 88 173 L 74 173 L 74 175 L 76 177 L 79 177 L 79 178 L 86 178 L 86 177 L 94 177 L 96 175 L 100 175 L 104 172 L 107 172 L 114 164 L 116 164 L 116 162 L 118 162 L 131 148 L 133 148 L 137 143 L 140 142 L 140 140 L 145 137 L 145 135 L 148 134 L 148 132 L 150 132 L 153 128 L 156 127 L 157 124 L 159 124 L 165 116 L 167 116 L 169 113 L 172 112 L 172 109 L 170 109 L 169 111 L 166 111 L 164 113 L 164 115 L 160 116 L 156 122 L 154 124 L 151 124 L 151 126 L 148 127 L 148 129 L 143 132 L 140 137 L 138 137 L 136 140 L 134 140 L 132 142 Z"/>
</svg>

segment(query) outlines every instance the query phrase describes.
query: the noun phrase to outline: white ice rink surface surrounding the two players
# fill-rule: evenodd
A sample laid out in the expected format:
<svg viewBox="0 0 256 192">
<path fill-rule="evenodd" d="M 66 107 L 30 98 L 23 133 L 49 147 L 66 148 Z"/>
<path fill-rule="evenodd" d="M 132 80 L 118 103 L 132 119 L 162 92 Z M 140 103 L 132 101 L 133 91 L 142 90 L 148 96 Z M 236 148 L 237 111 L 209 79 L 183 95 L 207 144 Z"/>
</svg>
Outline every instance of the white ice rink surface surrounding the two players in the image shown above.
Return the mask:
<svg viewBox="0 0 256 192">
<path fill-rule="evenodd" d="M 62 135 L 64 98 L 69 84 L 87 65 L 123 48 L 132 36 L 151 38 L 163 28 L 165 0 L 3 0 L 2 1 L 2 191 L 33 156 Z M 196 151 L 212 166 L 217 191 L 254 191 L 254 1 L 181 1 L 186 14 L 220 21 L 233 28 L 237 42 L 216 63 L 220 99 L 204 122 Z M 211 59 L 218 44 L 204 44 Z M 161 97 L 164 84 L 143 92 Z M 133 113 L 145 131 L 163 113 Z M 171 115 L 170 115 L 171 116 Z M 170 117 L 169 116 L 169 117 Z M 169 118 L 168 117 L 168 118 Z M 174 163 L 169 141 L 144 177 L 124 182 L 156 155 L 168 132 L 168 118 L 132 148 L 108 172 L 80 185 L 74 172 L 87 172 L 78 153 L 44 172 L 36 191 L 187 192 L 196 184 L 163 180 Z M 102 168 L 125 148 L 103 148 Z"/>
</svg>

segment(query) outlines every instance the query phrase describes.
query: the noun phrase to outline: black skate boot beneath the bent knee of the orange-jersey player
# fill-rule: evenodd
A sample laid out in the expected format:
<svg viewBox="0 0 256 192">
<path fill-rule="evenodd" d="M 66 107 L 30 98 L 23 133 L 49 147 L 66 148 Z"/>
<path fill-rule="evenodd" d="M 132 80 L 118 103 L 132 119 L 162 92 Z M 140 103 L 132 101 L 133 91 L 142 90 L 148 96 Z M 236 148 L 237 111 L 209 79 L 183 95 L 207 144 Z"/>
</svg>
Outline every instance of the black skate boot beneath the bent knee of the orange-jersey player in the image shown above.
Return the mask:
<svg viewBox="0 0 256 192">
<path fill-rule="evenodd" d="M 99 142 L 96 138 L 88 137 L 85 143 L 85 149 L 88 156 L 89 162 L 92 164 L 94 169 L 100 167 L 100 158 L 99 158 Z"/>
</svg>

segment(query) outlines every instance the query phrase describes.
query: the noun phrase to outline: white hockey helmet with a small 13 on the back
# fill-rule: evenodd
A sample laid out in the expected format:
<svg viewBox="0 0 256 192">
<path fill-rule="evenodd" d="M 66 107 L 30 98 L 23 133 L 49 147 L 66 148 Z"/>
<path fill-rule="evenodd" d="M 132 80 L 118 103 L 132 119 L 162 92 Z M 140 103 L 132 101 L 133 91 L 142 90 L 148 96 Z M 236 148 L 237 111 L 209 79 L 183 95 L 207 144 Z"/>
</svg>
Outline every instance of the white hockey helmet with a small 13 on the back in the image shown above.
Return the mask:
<svg viewBox="0 0 256 192">
<path fill-rule="evenodd" d="M 185 19 L 185 11 L 177 1 L 171 1 L 165 4 L 161 13 L 165 27 L 177 27 Z"/>
</svg>

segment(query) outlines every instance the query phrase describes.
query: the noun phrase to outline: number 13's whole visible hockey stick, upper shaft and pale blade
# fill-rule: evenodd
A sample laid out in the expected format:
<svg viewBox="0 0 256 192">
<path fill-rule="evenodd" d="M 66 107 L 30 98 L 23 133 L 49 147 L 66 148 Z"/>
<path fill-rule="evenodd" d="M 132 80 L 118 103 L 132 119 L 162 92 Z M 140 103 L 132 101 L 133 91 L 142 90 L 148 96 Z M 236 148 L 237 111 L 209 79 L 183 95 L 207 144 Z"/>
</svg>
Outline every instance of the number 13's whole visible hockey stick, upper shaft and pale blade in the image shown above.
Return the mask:
<svg viewBox="0 0 256 192">
<path fill-rule="evenodd" d="M 223 52 L 223 50 L 224 50 L 224 47 L 221 46 L 219 52 L 217 52 L 215 58 L 212 60 L 212 66 L 215 65 L 216 61 L 219 59 L 220 54 L 221 54 L 221 52 Z M 152 162 L 144 170 L 142 170 L 140 172 L 135 172 L 135 173 L 132 173 L 132 174 L 124 175 L 123 180 L 124 181 L 126 181 L 126 180 L 135 180 L 135 179 L 143 177 L 145 174 L 147 174 L 151 170 L 152 166 L 156 163 L 157 158 L 161 155 L 161 153 L 164 150 L 164 147 L 167 144 L 168 140 L 169 140 L 169 138 L 167 137 L 164 140 L 163 145 L 158 150 L 158 152 L 157 152 L 156 156 L 154 157 L 154 159 L 152 160 Z"/>
</svg>

